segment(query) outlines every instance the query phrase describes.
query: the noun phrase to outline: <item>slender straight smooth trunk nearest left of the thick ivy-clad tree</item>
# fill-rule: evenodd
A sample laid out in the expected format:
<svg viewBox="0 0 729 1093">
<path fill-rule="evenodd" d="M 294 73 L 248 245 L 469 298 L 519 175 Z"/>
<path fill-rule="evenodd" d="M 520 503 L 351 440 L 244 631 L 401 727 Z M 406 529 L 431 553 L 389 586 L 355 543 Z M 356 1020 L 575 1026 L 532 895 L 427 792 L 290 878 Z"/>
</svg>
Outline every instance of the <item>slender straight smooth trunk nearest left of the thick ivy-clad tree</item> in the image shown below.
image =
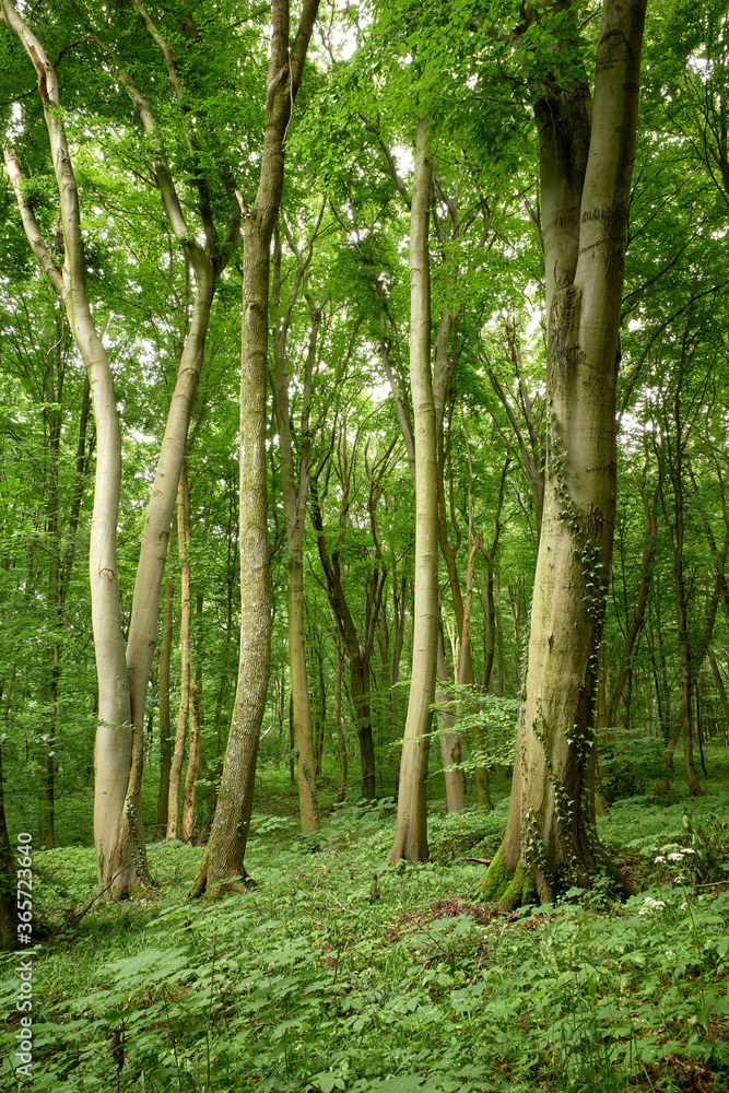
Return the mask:
<svg viewBox="0 0 729 1093">
<path fill-rule="evenodd" d="M 410 213 L 410 387 L 415 420 L 415 608 L 408 717 L 400 760 L 390 861 L 424 861 L 427 760 L 438 643 L 438 460 L 431 373 L 431 268 L 427 245 L 433 172 L 427 121 L 418 127 Z"/>
</svg>

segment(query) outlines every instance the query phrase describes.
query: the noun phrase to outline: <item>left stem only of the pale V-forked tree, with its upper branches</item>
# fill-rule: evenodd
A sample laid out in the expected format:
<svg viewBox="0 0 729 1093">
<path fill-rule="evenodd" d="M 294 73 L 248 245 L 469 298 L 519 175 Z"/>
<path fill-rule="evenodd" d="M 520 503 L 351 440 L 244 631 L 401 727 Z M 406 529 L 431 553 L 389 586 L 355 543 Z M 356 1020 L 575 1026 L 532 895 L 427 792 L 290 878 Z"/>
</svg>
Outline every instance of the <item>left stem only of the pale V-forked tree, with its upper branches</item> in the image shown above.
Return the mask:
<svg viewBox="0 0 729 1093">
<path fill-rule="evenodd" d="M 69 326 L 89 374 L 96 420 L 96 475 L 91 521 L 89 573 L 91 613 L 98 682 L 98 729 L 94 846 L 102 888 L 126 891 L 133 879 L 131 851 L 116 855 L 119 816 L 127 794 L 131 764 L 131 707 L 125 643 L 121 631 L 116 536 L 121 489 L 121 433 L 109 361 L 96 330 L 86 293 L 86 262 L 79 193 L 61 114 L 56 71 L 46 50 L 22 21 L 10 0 L 2 0 L 2 17 L 15 34 L 38 75 L 63 231 L 63 265 L 59 269 L 43 240 L 30 201 L 24 193 L 20 162 L 5 149 L 5 165 L 17 197 L 23 226 L 31 248 L 51 285 L 63 301 Z M 119 777 L 119 772 L 125 772 Z"/>
</svg>

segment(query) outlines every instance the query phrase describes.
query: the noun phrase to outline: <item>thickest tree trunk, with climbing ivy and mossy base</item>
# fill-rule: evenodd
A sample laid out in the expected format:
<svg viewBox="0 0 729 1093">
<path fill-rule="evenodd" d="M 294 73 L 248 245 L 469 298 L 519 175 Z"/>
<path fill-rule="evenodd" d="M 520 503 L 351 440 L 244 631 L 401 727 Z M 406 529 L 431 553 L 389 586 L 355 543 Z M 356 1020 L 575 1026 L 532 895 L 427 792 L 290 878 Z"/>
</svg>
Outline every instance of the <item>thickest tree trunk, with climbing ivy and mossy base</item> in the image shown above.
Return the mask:
<svg viewBox="0 0 729 1093">
<path fill-rule="evenodd" d="M 550 410 L 542 532 L 509 819 L 482 889 L 552 901 L 616 870 L 591 823 L 592 707 L 616 494 L 615 386 L 645 0 L 605 0 L 585 85 L 537 107 Z M 588 153 L 589 148 L 589 153 Z"/>
</svg>

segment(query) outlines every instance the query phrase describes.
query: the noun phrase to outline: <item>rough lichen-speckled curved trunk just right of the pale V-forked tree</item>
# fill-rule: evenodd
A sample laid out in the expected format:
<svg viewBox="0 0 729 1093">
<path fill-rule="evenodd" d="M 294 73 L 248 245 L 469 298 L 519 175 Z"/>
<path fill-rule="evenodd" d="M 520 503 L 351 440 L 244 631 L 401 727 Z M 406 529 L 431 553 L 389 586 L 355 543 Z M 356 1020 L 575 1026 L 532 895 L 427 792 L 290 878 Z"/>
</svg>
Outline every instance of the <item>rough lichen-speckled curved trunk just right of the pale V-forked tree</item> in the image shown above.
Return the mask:
<svg viewBox="0 0 729 1093">
<path fill-rule="evenodd" d="M 304 0 L 289 48 L 289 0 L 271 3 L 266 133 L 256 203 L 244 213 L 240 349 L 240 657 L 220 797 L 193 894 L 219 893 L 246 879 L 244 856 L 254 802 L 258 739 L 271 665 L 271 583 L 266 479 L 266 360 L 271 237 L 281 204 L 284 139 L 319 0 Z"/>
</svg>

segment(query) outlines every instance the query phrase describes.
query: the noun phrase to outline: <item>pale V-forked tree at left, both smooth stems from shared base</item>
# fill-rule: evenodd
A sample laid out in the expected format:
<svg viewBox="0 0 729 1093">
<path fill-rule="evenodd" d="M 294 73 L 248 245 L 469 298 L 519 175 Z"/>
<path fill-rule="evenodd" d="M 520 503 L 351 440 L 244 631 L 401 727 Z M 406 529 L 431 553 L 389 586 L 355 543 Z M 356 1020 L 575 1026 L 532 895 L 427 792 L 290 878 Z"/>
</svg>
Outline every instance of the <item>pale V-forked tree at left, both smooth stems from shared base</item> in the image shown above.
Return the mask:
<svg viewBox="0 0 729 1093">
<path fill-rule="evenodd" d="M 165 212 L 195 267 L 196 299 L 142 532 L 125 649 L 116 563 L 121 437 L 111 369 L 86 294 L 79 198 L 58 81 L 45 49 L 11 0 L 1 0 L 1 5 L 3 21 L 23 45 L 38 77 L 38 94 L 60 198 L 64 246 L 60 269 L 43 242 L 32 204 L 23 193 L 20 163 L 11 149 L 5 149 L 5 163 L 31 248 L 66 306 L 73 339 L 86 366 L 96 421 L 97 458 L 89 562 L 99 719 L 94 749 L 94 845 L 103 894 L 107 898 L 121 898 L 129 893 L 134 878 L 143 879 L 146 873 L 140 802 L 144 706 L 154 657 L 167 537 L 204 354 L 214 271 L 213 263 L 188 232 L 169 168 L 160 158 L 154 164 L 155 178 Z M 93 32 L 92 35 L 104 47 Z M 108 47 L 104 48 L 114 57 Z M 153 119 L 148 104 L 121 70 L 119 79 L 149 132 L 153 129 Z"/>
</svg>

